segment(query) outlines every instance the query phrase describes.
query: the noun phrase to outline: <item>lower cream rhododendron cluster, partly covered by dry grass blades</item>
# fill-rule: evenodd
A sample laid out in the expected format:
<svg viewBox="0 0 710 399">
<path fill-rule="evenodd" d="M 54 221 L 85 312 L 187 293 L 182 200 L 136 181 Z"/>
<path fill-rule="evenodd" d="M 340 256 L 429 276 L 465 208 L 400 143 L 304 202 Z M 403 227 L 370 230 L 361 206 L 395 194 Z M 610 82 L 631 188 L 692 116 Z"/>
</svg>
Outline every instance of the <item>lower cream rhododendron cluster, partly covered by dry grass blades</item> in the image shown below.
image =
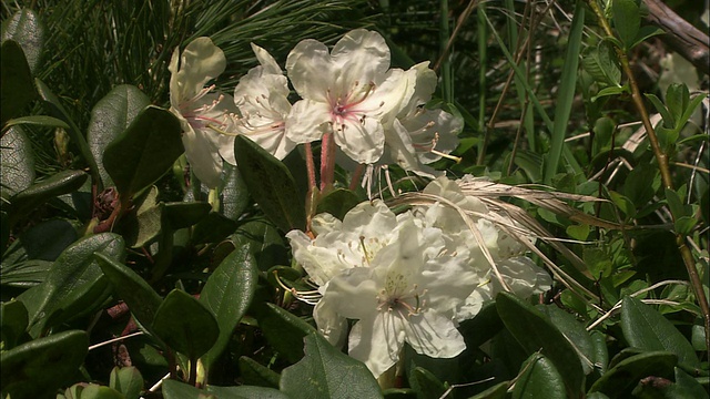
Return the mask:
<svg viewBox="0 0 710 399">
<path fill-rule="evenodd" d="M 445 177 L 424 193 L 442 202 L 399 215 L 383 202 L 366 202 L 342 222 L 315 216 L 313 239 L 300 231 L 286 235 L 322 295 L 314 309 L 320 331 L 334 345 L 347 340 L 348 354 L 376 377 L 396 364 L 404 342 L 430 357 L 460 354 L 457 323 L 474 317 L 497 291 L 529 296 L 550 286 L 525 246 L 496 225 L 513 221 L 501 222 Z M 483 242 L 447 203 L 473 215 Z M 347 319 L 356 320 L 349 331 Z"/>
</svg>

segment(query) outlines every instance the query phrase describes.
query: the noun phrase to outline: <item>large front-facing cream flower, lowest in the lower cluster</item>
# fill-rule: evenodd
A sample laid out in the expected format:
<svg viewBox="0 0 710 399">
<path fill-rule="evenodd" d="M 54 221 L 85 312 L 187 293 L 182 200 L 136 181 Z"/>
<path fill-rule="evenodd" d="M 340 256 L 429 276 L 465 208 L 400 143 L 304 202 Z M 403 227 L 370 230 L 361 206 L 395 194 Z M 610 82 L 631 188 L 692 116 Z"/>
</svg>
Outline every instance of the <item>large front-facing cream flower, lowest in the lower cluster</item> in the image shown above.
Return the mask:
<svg viewBox="0 0 710 399">
<path fill-rule="evenodd" d="M 368 267 L 348 268 L 331 279 L 314 310 L 318 326 L 325 321 L 331 328 L 329 338 L 342 336 L 344 318 L 357 320 L 348 354 L 375 377 L 397 362 L 405 342 L 436 358 L 466 348 L 453 316 L 477 276 L 460 262 L 465 254 L 445 252 L 440 231 L 422 228 L 410 213 L 405 215 L 395 239 Z"/>
</svg>

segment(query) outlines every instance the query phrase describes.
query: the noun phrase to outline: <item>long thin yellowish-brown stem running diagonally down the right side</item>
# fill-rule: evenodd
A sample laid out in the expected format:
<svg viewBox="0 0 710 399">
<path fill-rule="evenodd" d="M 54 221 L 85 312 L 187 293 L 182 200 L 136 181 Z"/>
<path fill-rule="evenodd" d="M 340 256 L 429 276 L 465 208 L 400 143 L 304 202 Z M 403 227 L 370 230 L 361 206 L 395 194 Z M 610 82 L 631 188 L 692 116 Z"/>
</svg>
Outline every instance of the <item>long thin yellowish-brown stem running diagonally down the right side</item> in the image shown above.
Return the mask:
<svg viewBox="0 0 710 399">
<path fill-rule="evenodd" d="M 609 25 L 609 21 L 605 18 L 604 12 L 599 8 L 597 0 L 586 0 L 591 10 L 597 16 L 599 20 L 599 24 L 604 29 L 605 33 L 608 37 L 613 37 L 613 31 Z M 639 113 L 641 117 L 641 122 L 643 123 L 643 127 L 646 127 L 646 134 L 648 135 L 648 140 L 651 143 L 651 149 L 653 150 L 653 155 L 656 156 L 656 161 L 658 162 L 658 168 L 661 173 L 661 182 L 666 188 L 673 190 L 673 182 L 671 180 L 670 166 L 668 162 L 668 155 L 663 152 L 658 143 L 658 137 L 656 136 L 656 131 L 653 130 L 653 125 L 648 116 L 648 111 L 646 110 L 646 105 L 643 104 L 643 99 L 641 96 L 641 91 L 639 90 L 639 85 L 636 82 L 636 76 L 631 71 L 631 65 L 629 64 L 629 58 L 627 57 L 623 49 L 616 48 L 617 55 L 619 57 L 619 62 L 621 63 L 621 69 L 626 74 L 629 83 L 629 88 L 631 89 L 631 100 L 636 108 L 636 111 Z M 676 221 L 676 215 L 671 213 L 673 222 Z M 702 288 L 702 282 L 700 280 L 700 276 L 698 275 L 698 269 L 696 268 L 696 259 L 692 256 L 692 253 L 686 245 L 686 236 L 679 233 L 676 233 L 676 244 L 678 245 L 678 249 L 680 250 L 680 255 L 683 259 L 683 264 L 686 265 L 686 269 L 688 270 L 688 276 L 690 277 L 690 284 L 696 294 L 696 298 L 698 298 L 698 305 L 700 306 L 700 310 L 702 311 L 702 318 L 704 321 L 704 330 L 706 330 L 706 350 L 708 352 L 708 357 L 710 357 L 710 306 L 708 305 L 708 298 L 706 297 L 706 293 Z"/>
</svg>

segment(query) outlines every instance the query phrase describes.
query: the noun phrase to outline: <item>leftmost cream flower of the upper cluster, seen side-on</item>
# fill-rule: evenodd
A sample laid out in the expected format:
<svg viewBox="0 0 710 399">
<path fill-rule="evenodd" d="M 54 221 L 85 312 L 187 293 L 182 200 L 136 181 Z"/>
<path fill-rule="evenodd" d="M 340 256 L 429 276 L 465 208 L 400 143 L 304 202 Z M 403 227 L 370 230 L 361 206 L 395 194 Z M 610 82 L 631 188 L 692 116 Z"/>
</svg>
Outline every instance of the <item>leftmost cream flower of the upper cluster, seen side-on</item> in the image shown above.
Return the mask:
<svg viewBox="0 0 710 399">
<path fill-rule="evenodd" d="M 197 178 L 211 188 L 220 183 L 222 156 L 234 158 L 233 140 L 230 145 L 220 139 L 231 129 L 234 101 L 213 93 L 214 85 L 205 86 L 225 66 L 224 53 L 210 38 L 193 40 L 182 54 L 175 50 L 169 65 L 170 110 L 182 125 L 185 156 Z"/>
</svg>

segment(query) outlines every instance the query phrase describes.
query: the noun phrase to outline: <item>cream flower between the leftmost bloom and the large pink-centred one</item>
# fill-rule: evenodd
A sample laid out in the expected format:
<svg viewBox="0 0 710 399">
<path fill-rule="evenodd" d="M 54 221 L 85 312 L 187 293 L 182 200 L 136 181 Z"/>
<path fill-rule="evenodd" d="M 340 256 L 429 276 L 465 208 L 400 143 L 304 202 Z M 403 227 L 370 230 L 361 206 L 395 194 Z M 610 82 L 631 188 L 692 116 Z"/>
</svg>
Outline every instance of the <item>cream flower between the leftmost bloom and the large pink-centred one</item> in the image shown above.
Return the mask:
<svg viewBox="0 0 710 399">
<path fill-rule="evenodd" d="M 286 117 L 291 112 L 288 81 L 266 50 L 254 43 L 252 50 L 261 65 L 252 68 L 234 89 L 234 102 L 240 111 L 234 127 L 283 160 L 296 146 L 286 136 Z M 231 160 L 234 160 L 233 151 Z"/>
</svg>

